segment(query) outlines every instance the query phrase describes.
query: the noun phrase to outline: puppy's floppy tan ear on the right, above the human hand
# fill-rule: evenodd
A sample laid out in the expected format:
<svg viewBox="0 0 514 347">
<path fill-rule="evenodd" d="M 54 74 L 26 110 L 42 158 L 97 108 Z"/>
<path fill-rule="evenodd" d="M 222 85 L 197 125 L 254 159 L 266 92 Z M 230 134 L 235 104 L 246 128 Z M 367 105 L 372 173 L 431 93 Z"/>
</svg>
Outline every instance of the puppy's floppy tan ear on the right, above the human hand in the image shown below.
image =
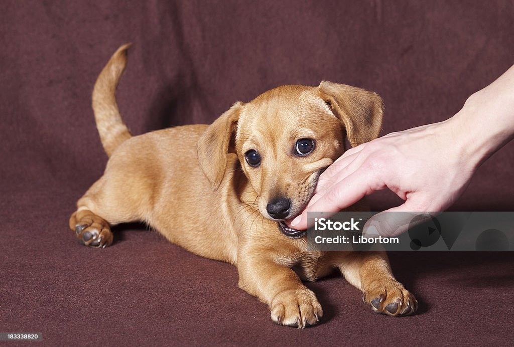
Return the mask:
<svg viewBox="0 0 514 347">
<path fill-rule="evenodd" d="M 377 93 L 322 81 L 321 98 L 346 127 L 352 147 L 378 137 L 382 128 L 383 102 Z"/>
</svg>

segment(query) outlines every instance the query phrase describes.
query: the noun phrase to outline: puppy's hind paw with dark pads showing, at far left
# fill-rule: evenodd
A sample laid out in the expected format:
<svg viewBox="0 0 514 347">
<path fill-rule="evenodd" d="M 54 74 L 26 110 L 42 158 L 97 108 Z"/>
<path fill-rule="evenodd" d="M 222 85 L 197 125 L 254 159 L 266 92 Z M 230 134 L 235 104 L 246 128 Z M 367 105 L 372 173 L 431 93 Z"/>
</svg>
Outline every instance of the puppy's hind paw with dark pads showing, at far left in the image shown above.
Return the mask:
<svg viewBox="0 0 514 347">
<path fill-rule="evenodd" d="M 96 248 L 105 248 L 113 243 L 109 224 L 95 215 L 88 215 L 76 222 L 75 234 L 80 243 Z"/>
</svg>

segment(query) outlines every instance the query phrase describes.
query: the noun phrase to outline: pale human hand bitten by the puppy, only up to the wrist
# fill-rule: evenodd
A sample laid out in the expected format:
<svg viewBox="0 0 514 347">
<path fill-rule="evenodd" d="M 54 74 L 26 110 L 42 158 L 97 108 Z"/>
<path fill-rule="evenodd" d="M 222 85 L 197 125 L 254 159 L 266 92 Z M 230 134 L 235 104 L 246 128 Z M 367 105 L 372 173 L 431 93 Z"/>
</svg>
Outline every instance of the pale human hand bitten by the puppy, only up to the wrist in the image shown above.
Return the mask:
<svg viewBox="0 0 514 347">
<path fill-rule="evenodd" d="M 465 190 L 478 165 L 466 141 L 458 138 L 458 123 L 449 119 L 394 132 L 347 150 L 322 173 L 315 195 L 290 226 L 305 229 L 309 211 L 335 213 L 386 188 L 405 201 L 387 211 L 445 210 Z M 394 220 L 384 223 L 384 217 Z M 405 232 L 411 220 L 411 214 L 381 213 L 365 228 L 380 221 L 378 233 L 395 236 Z"/>
</svg>

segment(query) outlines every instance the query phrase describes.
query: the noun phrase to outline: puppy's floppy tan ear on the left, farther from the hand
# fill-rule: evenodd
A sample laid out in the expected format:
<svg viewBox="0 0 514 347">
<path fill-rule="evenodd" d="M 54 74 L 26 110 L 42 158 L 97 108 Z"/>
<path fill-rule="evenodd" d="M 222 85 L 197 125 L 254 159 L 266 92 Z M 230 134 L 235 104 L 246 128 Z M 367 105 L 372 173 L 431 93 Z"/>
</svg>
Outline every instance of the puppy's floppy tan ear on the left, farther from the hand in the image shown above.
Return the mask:
<svg viewBox="0 0 514 347">
<path fill-rule="evenodd" d="M 201 134 L 197 143 L 200 168 L 214 188 L 219 187 L 227 169 L 230 140 L 235 132 L 243 103 L 235 103 Z"/>
</svg>

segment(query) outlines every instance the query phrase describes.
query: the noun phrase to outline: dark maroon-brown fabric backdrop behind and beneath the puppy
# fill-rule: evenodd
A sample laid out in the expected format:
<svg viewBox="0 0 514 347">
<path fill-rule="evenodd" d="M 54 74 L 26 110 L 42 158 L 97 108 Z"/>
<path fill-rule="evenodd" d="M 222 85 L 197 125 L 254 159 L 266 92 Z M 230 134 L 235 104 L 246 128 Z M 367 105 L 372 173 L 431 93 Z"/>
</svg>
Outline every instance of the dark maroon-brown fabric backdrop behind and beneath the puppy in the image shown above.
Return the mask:
<svg viewBox="0 0 514 347">
<path fill-rule="evenodd" d="M 422 302 L 408 318 L 373 315 L 340 278 L 309 284 L 325 317 L 296 331 L 238 290 L 230 265 L 134 225 L 87 249 L 67 221 L 106 163 L 90 93 L 123 43 L 134 47 L 118 102 L 136 134 L 321 80 L 382 95 L 386 134 L 447 119 L 507 70 L 513 23 L 504 0 L 0 2 L 0 332 L 48 345 L 508 342 L 509 253 L 392 254 Z M 510 143 L 452 209 L 512 210 L 513 159 Z M 395 203 L 372 197 L 375 210 Z"/>
</svg>

